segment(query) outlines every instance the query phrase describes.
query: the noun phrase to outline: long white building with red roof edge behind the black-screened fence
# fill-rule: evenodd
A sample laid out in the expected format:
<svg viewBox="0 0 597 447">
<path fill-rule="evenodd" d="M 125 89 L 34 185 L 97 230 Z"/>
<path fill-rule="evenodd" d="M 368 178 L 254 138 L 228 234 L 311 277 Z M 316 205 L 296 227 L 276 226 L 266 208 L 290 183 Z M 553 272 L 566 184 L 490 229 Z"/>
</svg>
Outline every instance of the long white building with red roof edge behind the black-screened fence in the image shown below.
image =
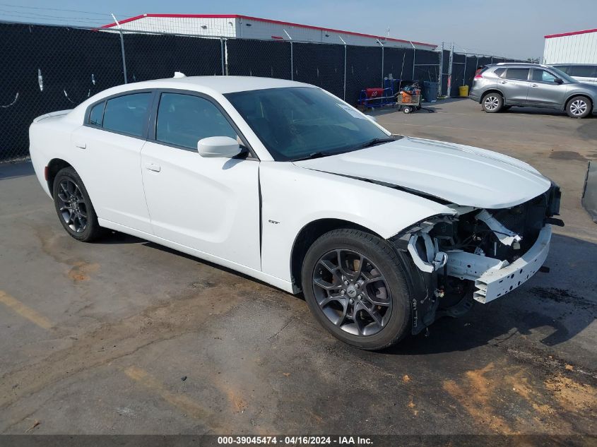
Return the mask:
<svg viewBox="0 0 597 447">
<path fill-rule="evenodd" d="M 362 32 L 333 30 L 299 23 L 269 20 L 266 18 L 220 14 L 142 14 L 119 20 L 123 30 L 169 32 L 206 37 L 240 37 L 260 40 L 297 40 L 349 45 L 376 46 L 377 41 L 386 47 L 406 47 L 434 50 L 437 45 L 410 40 L 383 37 Z M 117 23 L 102 28 L 117 28 Z"/>
</svg>

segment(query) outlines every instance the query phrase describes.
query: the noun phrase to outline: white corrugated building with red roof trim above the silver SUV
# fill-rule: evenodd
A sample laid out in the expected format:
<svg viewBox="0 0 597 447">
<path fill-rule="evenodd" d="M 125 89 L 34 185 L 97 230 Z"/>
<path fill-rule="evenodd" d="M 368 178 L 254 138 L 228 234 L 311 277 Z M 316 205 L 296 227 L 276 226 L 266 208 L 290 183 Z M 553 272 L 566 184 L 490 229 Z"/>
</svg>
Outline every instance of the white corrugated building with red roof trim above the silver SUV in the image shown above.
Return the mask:
<svg viewBox="0 0 597 447">
<path fill-rule="evenodd" d="M 597 29 L 545 36 L 543 64 L 597 64 Z"/>
</svg>

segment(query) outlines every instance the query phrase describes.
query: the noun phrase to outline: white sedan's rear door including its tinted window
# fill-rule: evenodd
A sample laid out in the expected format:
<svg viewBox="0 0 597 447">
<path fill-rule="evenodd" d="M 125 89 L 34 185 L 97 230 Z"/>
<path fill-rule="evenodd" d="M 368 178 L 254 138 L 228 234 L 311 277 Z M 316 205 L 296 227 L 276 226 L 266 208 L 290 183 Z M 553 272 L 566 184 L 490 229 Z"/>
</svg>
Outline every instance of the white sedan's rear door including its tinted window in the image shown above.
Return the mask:
<svg viewBox="0 0 597 447">
<path fill-rule="evenodd" d="M 140 165 L 152 98 L 144 90 L 97 102 L 71 135 L 73 150 L 81 153 L 75 169 L 97 217 L 147 233 L 151 223 Z"/>
</svg>

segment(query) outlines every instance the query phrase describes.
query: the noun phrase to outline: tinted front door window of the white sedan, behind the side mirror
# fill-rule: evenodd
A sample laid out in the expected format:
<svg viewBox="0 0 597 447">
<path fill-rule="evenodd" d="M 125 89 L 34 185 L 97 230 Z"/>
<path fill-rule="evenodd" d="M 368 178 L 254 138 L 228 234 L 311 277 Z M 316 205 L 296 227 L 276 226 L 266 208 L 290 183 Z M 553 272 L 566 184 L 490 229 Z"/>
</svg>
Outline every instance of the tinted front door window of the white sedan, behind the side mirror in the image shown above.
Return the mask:
<svg viewBox="0 0 597 447">
<path fill-rule="evenodd" d="M 162 93 L 155 126 L 157 141 L 196 150 L 199 140 L 210 136 L 237 139 L 236 131 L 211 101 L 182 93 Z"/>
</svg>

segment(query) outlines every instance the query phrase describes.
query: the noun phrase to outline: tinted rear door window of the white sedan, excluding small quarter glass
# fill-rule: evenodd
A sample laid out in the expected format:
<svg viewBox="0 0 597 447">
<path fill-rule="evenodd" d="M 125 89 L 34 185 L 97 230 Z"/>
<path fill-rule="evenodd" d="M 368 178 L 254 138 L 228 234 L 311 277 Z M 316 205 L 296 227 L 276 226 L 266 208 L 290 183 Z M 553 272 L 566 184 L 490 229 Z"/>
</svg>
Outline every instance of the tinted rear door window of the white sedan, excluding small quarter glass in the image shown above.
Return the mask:
<svg viewBox="0 0 597 447">
<path fill-rule="evenodd" d="M 133 93 L 107 100 L 102 127 L 110 131 L 143 136 L 151 95 L 149 92 Z"/>
</svg>

